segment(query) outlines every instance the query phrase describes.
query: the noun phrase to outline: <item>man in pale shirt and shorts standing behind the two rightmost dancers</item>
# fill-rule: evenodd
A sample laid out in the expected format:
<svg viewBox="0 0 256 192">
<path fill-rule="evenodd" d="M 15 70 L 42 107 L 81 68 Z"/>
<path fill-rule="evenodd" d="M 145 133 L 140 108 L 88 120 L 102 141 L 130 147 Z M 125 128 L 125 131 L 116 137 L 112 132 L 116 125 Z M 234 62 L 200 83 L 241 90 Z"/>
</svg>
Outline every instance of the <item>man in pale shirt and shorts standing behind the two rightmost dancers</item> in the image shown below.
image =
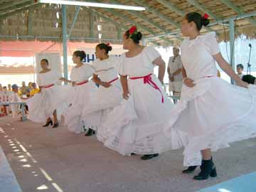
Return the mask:
<svg viewBox="0 0 256 192">
<path fill-rule="evenodd" d="M 169 58 L 167 73 L 169 74 L 169 92 L 173 92 L 174 96 L 181 95 L 182 87 L 182 62 L 181 55 L 179 55 L 179 48 L 174 47 L 174 56 Z"/>
</svg>

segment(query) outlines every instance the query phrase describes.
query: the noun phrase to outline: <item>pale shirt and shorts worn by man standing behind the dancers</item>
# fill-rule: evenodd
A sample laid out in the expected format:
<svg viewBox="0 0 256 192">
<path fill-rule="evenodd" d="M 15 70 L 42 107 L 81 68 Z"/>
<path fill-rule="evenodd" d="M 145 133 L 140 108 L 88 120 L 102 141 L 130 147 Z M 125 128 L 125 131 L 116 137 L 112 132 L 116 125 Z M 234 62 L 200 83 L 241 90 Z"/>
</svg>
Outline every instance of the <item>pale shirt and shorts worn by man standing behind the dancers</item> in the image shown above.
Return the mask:
<svg viewBox="0 0 256 192">
<path fill-rule="evenodd" d="M 170 68 L 170 73 L 174 73 L 176 70 L 182 68 L 181 55 L 178 55 L 176 58 L 169 58 L 168 65 Z M 169 92 L 181 92 L 182 84 L 182 74 L 179 73 L 178 75 L 174 76 L 174 81 L 169 80 Z"/>
</svg>

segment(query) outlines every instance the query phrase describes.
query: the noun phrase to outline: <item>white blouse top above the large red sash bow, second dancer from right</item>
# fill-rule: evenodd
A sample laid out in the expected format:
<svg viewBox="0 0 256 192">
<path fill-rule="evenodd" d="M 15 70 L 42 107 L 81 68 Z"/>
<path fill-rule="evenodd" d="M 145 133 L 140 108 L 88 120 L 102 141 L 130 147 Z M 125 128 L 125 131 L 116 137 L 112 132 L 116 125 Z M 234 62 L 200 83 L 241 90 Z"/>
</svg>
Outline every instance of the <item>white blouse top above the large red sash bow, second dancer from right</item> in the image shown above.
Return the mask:
<svg viewBox="0 0 256 192">
<path fill-rule="evenodd" d="M 153 61 L 160 56 L 153 47 L 145 47 L 142 53 L 132 58 L 127 58 L 125 53 L 123 53 L 119 61 L 119 74 L 129 75 L 131 78 L 134 78 L 154 73 Z"/>
</svg>

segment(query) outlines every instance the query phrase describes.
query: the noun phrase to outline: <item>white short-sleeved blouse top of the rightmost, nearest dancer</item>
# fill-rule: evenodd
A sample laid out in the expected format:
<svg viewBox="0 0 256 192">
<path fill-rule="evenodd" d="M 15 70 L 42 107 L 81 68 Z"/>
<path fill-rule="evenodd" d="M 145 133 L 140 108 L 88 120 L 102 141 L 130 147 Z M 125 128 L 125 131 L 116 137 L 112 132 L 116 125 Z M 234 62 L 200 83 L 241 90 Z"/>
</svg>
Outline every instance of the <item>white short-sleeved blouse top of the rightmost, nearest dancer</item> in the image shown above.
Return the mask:
<svg viewBox="0 0 256 192">
<path fill-rule="evenodd" d="M 209 75 L 217 75 L 213 55 L 219 52 L 215 32 L 206 33 L 193 40 L 186 38 L 181 43 L 181 60 L 188 78 L 198 80 Z"/>
</svg>

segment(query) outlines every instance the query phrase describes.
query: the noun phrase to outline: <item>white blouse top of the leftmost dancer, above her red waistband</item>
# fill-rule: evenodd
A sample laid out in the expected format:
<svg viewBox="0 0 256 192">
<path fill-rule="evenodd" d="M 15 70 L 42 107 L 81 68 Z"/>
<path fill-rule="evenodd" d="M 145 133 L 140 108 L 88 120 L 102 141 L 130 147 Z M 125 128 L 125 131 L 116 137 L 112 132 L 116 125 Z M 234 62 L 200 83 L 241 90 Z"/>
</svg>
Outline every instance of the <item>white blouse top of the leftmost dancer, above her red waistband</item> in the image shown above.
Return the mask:
<svg viewBox="0 0 256 192">
<path fill-rule="evenodd" d="M 38 86 L 46 86 L 51 84 L 58 84 L 61 75 L 56 70 L 50 70 L 47 73 L 38 73 L 36 82 Z"/>
</svg>

